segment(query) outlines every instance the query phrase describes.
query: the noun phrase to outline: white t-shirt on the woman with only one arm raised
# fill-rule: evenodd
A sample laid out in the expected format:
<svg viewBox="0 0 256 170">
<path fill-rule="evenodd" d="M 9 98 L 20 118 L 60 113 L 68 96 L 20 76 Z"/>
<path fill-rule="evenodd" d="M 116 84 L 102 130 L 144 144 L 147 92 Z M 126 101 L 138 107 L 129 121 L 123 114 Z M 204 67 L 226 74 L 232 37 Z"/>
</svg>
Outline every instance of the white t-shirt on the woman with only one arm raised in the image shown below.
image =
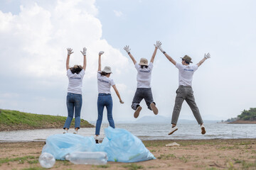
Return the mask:
<svg viewBox="0 0 256 170">
<path fill-rule="evenodd" d="M 110 88 L 114 85 L 114 80 L 97 72 L 97 84 L 99 94 L 111 94 Z"/>
</svg>

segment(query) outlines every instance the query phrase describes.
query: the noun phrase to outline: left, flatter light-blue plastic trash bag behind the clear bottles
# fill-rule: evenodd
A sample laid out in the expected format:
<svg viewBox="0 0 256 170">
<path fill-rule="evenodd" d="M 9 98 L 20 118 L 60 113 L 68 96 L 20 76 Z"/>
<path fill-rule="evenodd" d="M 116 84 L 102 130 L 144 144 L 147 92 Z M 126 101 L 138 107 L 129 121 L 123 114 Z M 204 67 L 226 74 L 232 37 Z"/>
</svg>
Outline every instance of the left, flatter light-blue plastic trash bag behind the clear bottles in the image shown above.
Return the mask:
<svg viewBox="0 0 256 170">
<path fill-rule="evenodd" d="M 57 134 L 46 139 L 43 152 L 53 154 L 55 159 L 65 160 L 65 155 L 75 151 L 97 152 L 94 137 L 83 137 L 77 134 Z"/>
</svg>

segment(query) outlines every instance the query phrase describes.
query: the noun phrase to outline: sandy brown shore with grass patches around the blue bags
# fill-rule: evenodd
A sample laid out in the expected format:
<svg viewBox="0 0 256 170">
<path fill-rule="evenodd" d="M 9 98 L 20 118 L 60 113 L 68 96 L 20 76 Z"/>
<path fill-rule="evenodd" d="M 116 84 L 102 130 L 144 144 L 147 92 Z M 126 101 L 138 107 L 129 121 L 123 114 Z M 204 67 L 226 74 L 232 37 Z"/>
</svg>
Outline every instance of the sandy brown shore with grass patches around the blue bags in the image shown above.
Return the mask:
<svg viewBox="0 0 256 170">
<path fill-rule="evenodd" d="M 57 161 L 52 169 L 256 169 L 256 139 L 143 141 L 156 159 L 133 164 L 75 165 Z M 178 147 L 166 147 L 176 142 Z M 38 162 L 44 142 L 0 143 L 0 169 L 43 169 Z"/>
</svg>

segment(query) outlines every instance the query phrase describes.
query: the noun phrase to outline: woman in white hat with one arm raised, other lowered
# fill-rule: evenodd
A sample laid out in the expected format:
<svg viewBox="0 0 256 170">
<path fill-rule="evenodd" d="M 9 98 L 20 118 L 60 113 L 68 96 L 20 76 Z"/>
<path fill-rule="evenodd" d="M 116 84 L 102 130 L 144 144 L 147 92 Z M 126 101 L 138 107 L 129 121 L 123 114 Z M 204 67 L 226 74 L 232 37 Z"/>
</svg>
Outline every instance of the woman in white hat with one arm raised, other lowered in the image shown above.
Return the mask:
<svg viewBox="0 0 256 170">
<path fill-rule="evenodd" d="M 103 55 L 103 51 L 99 52 L 99 67 L 97 72 L 97 87 L 98 87 L 98 98 L 97 98 L 97 111 L 98 111 L 98 118 L 96 123 L 96 130 L 95 130 L 95 142 L 98 143 L 99 139 L 98 136 L 100 135 L 100 126 L 102 123 L 102 116 L 103 116 L 103 110 L 106 106 L 107 108 L 107 120 L 110 123 L 110 126 L 114 128 L 114 120 L 112 118 L 112 96 L 110 92 L 111 86 L 113 87 L 115 93 L 117 94 L 117 97 L 119 98 L 120 103 L 124 103 L 122 101 L 119 91 L 117 90 L 117 87 L 114 84 L 114 80 L 110 79 L 110 74 L 112 73 L 111 67 L 106 66 L 101 71 L 101 55 Z"/>
</svg>

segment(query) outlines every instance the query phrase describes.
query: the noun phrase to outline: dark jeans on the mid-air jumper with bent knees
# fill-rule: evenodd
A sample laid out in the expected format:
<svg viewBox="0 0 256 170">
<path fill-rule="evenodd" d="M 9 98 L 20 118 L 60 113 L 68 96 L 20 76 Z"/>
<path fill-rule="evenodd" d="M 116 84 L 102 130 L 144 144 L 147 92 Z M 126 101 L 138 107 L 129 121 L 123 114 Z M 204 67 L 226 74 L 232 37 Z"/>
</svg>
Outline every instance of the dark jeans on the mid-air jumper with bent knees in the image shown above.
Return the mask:
<svg viewBox="0 0 256 170">
<path fill-rule="evenodd" d="M 143 98 L 146 101 L 146 106 L 148 106 L 149 110 L 151 110 L 150 104 L 154 103 L 151 88 L 137 88 L 134 98 L 132 100 L 132 109 L 134 111 L 137 109 L 137 106 Z"/>
</svg>

